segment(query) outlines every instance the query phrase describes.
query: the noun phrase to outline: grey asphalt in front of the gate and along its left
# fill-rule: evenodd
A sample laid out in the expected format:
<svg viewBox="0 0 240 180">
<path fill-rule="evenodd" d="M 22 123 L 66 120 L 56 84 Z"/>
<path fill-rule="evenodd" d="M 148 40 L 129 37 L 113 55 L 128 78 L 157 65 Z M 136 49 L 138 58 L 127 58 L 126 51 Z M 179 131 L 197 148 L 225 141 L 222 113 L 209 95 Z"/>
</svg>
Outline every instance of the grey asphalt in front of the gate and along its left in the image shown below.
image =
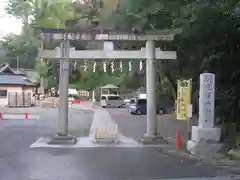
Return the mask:
<svg viewBox="0 0 240 180">
<path fill-rule="evenodd" d="M 30 149 L 38 138 L 56 132 L 57 112 L 46 110 L 40 120 L 0 121 L 0 180 L 149 180 L 234 173 L 156 148 Z M 88 127 L 92 113 L 71 110 L 69 119 L 70 127 Z"/>
</svg>

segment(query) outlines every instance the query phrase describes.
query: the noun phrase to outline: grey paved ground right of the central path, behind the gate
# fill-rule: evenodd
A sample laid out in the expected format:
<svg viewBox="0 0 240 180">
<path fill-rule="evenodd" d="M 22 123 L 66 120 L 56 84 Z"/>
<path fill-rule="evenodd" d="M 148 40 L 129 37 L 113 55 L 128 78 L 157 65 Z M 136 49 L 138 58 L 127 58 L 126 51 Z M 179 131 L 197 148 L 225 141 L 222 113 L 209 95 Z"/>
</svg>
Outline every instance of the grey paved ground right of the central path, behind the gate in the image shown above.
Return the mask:
<svg viewBox="0 0 240 180">
<path fill-rule="evenodd" d="M 138 139 L 146 133 L 146 115 L 131 115 L 127 109 L 108 109 L 114 121 L 118 124 L 120 131 L 128 137 Z M 197 124 L 197 119 L 192 120 L 192 124 Z M 170 114 L 158 115 L 158 131 L 166 140 L 173 143 L 175 141 L 177 129 L 180 130 L 183 142 L 188 140 L 188 122 L 178 121 Z"/>
</svg>

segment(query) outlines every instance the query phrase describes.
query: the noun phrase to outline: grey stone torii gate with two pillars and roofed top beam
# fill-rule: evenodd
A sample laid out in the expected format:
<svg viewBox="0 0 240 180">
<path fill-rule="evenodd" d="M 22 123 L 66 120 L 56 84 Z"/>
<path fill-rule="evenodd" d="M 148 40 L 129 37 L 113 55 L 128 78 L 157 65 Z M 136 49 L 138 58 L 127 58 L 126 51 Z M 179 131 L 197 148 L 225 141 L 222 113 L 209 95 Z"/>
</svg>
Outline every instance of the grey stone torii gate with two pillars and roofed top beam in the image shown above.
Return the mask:
<svg viewBox="0 0 240 180">
<path fill-rule="evenodd" d="M 56 139 L 72 140 L 68 135 L 68 76 L 71 59 L 146 59 L 146 86 L 147 86 L 147 132 L 143 138 L 154 140 L 157 136 L 156 114 L 156 59 L 176 59 L 175 51 L 161 51 L 155 47 L 155 41 L 172 41 L 178 32 L 161 34 L 132 34 L 114 31 L 78 32 L 75 30 L 41 28 L 43 40 L 61 41 L 60 47 L 55 50 L 39 50 L 42 58 L 60 59 L 60 103 L 59 125 Z M 70 41 L 144 41 L 146 48 L 141 50 L 75 50 L 70 47 Z"/>
</svg>

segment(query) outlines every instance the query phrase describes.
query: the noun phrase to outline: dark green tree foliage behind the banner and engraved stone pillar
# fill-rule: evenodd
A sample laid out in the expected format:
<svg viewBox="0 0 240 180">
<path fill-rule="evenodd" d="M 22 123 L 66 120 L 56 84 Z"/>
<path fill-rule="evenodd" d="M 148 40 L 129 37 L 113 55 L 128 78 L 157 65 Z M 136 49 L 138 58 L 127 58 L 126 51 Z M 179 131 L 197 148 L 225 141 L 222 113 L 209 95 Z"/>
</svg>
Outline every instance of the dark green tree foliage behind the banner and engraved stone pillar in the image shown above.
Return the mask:
<svg viewBox="0 0 240 180">
<path fill-rule="evenodd" d="M 137 24 L 143 23 L 140 19 L 147 19 L 145 20 L 147 23 L 139 28 L 140 31 L 177 27 L 183 30 L 172 44 L 165 45 L 167 49 L 177 50 L 178 59 L 171 62 L 163 61 L 160 65 L 160 76 L 167 77 L 174 89 L 177 78 L 191 77 L 193 94 L 198 94 L 200 73 L 215 73 L 217 116 L 226 120 L 238 119 L 239 2 L 189 0 L 173 3 L 153 0 L 145 4 L 146 1 L 132 0 L 128 3 L 132 3 L 132 7 L 128 6 L 130 8 L 125 16 L 134 17 Z M 162 7 L 167 11 L 156 10 Z M 197 105 L 197 98 L 194 100 L 194 104 Z"/>
</svg>

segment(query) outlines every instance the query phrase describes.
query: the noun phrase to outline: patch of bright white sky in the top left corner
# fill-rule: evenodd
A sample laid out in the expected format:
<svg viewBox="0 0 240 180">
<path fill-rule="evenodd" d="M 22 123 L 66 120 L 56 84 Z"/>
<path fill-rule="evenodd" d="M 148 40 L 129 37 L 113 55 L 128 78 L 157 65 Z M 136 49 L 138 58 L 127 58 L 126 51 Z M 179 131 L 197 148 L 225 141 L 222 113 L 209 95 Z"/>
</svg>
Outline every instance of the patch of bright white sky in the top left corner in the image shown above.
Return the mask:
<svg viewBox="0 0 240 180">
<path fill-rule="evenodd" d="M 14 17 L 10 17 L 4 10 L 8 0 L 0 0 L 0 38 L 9 33 L 20 34 L 22 23 Z"/>
</svg>

